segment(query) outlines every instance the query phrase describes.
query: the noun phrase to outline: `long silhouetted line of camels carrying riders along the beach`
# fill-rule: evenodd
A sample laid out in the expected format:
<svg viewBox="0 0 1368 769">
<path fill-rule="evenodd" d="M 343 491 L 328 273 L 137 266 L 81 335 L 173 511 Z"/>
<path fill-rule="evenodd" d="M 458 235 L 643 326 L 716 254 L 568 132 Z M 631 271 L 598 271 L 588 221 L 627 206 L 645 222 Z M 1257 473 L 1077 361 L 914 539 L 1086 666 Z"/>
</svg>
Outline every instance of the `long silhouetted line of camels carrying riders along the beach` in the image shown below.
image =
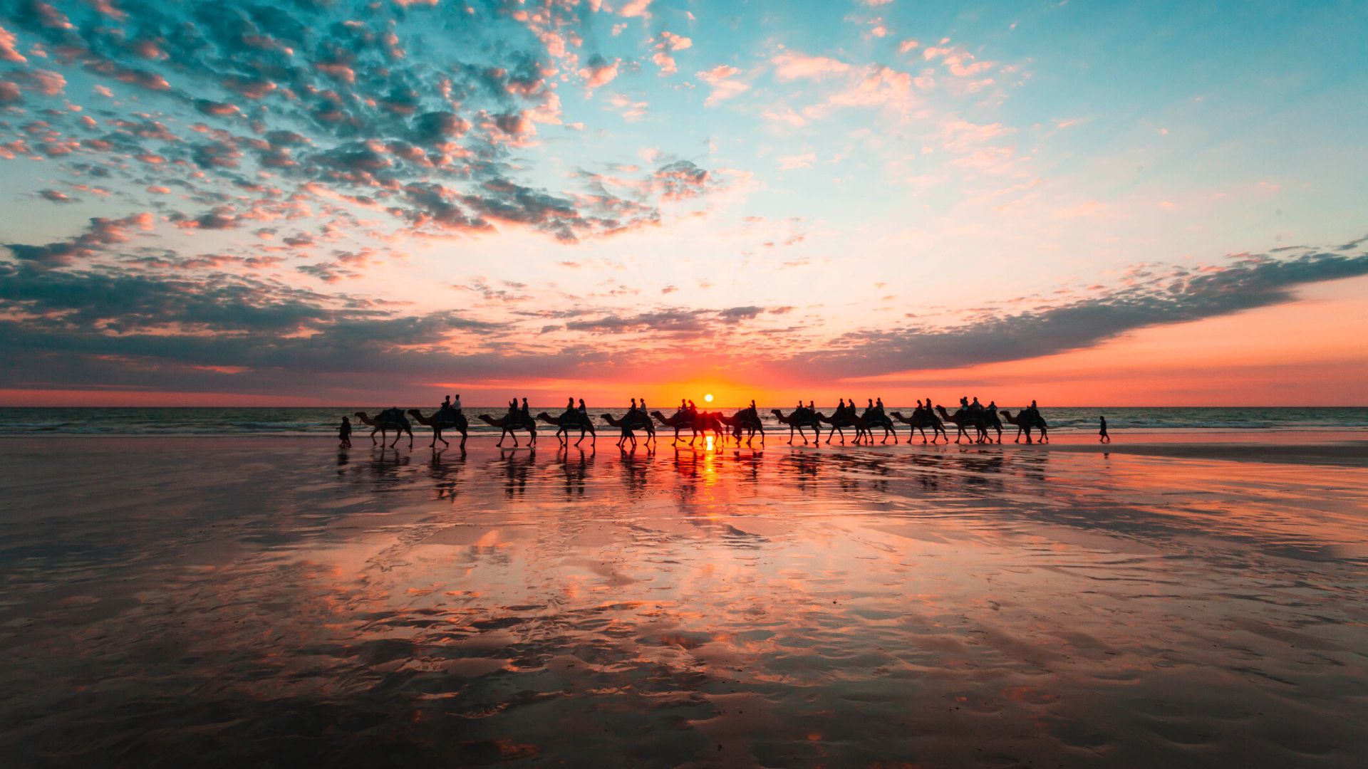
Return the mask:
<svg viewBox="0 0 1368 769">
<path fill-rule="evenodd" d="M 856 445 L 873 443 L 876 431 L 878 431 L 880 443 L 888 443 L 889 438 L 893 439 L 893 443 L 897 443 L 896 424 L 908 426 L 908 443 L 918 434 L 922 436 L 922 443 L 936 443 L 941 438 L 945 439 L 945 443 L 949 443 L 949 434 L 945 430 L 947 424 L 955 426 L 956 443 L 966 439 L 971 443 L 1001 443 L 1004 421 L 1008 426 L 1016 427 L 1015 442 L 1018 443 L 1023 436 L 1026 438 L 1026 443 L 1034 442 L 1033 431 L 1038 434 L 1041 442 L 1049 441 L 1049 426 L 1036 408 L 1036 401 L 1031 401 L 1031 405 L 1018 412 L 1016 416 L 1012 416 L 1008 410 L 999 410 L 995 402 L 989 402 L 986 406 L 979 405 L 978 398 L 974 398 L 973 402 L 969 398 L 960 398 L 959 409 L 953 413 L 945 410 L 944 405 L 932 405 L 930 398 L 926 398 L 925 405 L 922 401 L 917 401 L 917 408 L 912 409 L 910 416 L 903 416 L 902 412 L 885 415 L 882 398 L 878 398 L 877 402 L 873 398 L 869 400 L 869 405 L 863 412 L 858 409 L 854 400 L 847 402 L 841 398 L 836 410 L 830 415 L 817 410 L 811 401 L 806 406 L 799 401 L 798 406 L 788 415 L 781 409 L 770 409 L 770 413 L 774 415 L 774 419 L 780 424 L 788 426 L 789 443 L 793 442 L 796 434 L 804 446 L 808 443 L 804 430 L 813 431 L 813 445 L 817 445 L 822 438 L 822 426 L 828 427 L 826 443 L 830 443 L 832 438 L 839 434 L 844 445 L 845 431 L 851 428 L 855 431 L 852 442 Z M 442 432 L 454 430 L 461 434 L 460 445 L 464 449 L 469 431 L 469 423 L 461 410 L 460 395 L 456 397 L 454 402 L 451 398 L 447 398 L 431 416 L 424 416 L 419 409 L 408 409 L 405 412 L 398 408 L 384 409 L 373 417 L 365 412 L 356 412 L 354 416 L 361 424 L 371 427 L 372 443 L 375 443 L 376 432 L 380 434 L 380 442 L 383 443 L 389 441 L 389 432 L 393 431 L 394 442 L 390 446 L 398 445 L 405 434 L 409 436 L 409 446 L 413 446 L 413 426 L 409 417 L 432 430 L 432 446 L 436 446 L 438 441 L 445 446 L 450 446 L 451 443 L 442 436 Z M 555 438 L 562 446 L 569 445 L 573 431 L 579 431 L 579 438 L 575 441 L 576 446 L 584 438 L 588 438 L 591 445 L 598 441 L 594 420 L 590 417 L 583 398 L 580 398 L 577 405 L 575 398 L 570 398 L 565 410 L 560 415 L 553 416 L 547 412 L 540 412 L 535 417 L 528 410 L 527 398 L 523 398 L 521 404 L 514 398 L 509 402 L 509 409 L 502 416 L 482 413 L 476 419 L 499 428 L 497 446 L 501 447 L 503 446 L 503 441 L 509 438 L 513 439 L 514 447 L 518 446 L 518 432 L 521 431 L 527 432 L 527 445 L 536 446 L 538 423 L 555 426 Z M 617 431 L 617 446 L 624 449 L 628 443 L 631 443 L 632 449 L 636 447 L 637 431 L 646 432 L 644 441 L 647 443 L 655 441 L 657 424 L 661 428 L 674 431 L 672 443 L 683 441 L 684 432 L 689 434 L 688 445 L 691 446 L 699 438 L 703 438 L 705 442 L 711 438 L 715 445 L 722 445 L 726 442 L 728 435 L 736 441 L 737 446 L 743 438 L 747 446 L 752 446 L 757 435 L 761 443 L 765 442 L 765 424 L 755 409 L 755 401 L 751 401 L 750 406 L 736 413 L 726 415 L 722 412 L 699 410 L 694 405 L 694 401 L 680 400 L 680 408 L 673 415 L 665 416 L 658 410 L 647 412 L 644 400 L 637 404 L 637 400 L 632 398 L 632 406 L 622 417 L 605 413 L 601 415 L 601 419 Z M 347 435 L 350 434 L 350 424 L 345 419 L 343 430 Z M 929 438 L 928 431 L 930 431 Z"/>
</svg>

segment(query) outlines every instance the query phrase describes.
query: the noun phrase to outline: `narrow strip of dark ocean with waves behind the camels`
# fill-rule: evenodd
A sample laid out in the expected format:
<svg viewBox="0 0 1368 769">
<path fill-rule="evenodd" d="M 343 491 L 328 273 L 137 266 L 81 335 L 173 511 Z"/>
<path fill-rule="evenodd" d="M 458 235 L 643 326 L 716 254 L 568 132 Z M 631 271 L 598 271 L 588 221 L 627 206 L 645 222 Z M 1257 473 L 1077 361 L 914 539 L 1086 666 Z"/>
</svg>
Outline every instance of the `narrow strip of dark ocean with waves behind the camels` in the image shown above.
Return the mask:
<svg viewBox="0 0 1368 769">
<path fill-rule="evenodd" d="M 409 406 L 404 406 L 408 409 Z M 532 406 L 532 413 L 561 413 L 564 406 Z M 788 413 L 792 406 L 782 410 Z M 1016 413 L 1019 406 L 1004 406 Z M 0 408 L 0 435 L 331 435 L 343 416 L 358 410 L 371 415 L 380 410 L 376 406 L 337 408 Z M 423 413 L 435 410 L 432 406 Z M 627 409 L 590 406 L 595 423 L 602 423 L 599 415 L 611 413 L 621 417 Z M 666 415 L 673 409 L 665 410 Z M 713 408 L 735 413 L 736 408 Z M 766 431 L 788 432 L 787 427 L 770 413 L 770 406 L 761 408 Z M 832 406 L 822 409 L 830 413 Z M 886 412 L 900 410 L 910 415 L 912 406 L 886 406 Z M 466 406 L 471 434 L 495 434 L 497 428 L 476 419 L 480 413 L 501 416 L 503 406 Z M 1097 417 L 1107 417 L 1111 432 L 1130 431 L 1245 431 L 1245 430 L 1363 430 L 1368 428 L 1368 408 L 1297 408 L 1297 406 L 1254 406 L 1254 408 L 1149 408 L 1149 406 L 1094 406 L 1094 408 L 1049 408 L 1041 406 L 1041 415 L 1049 423 L 1052 432 L 1094 432 Z M 367 435 L 365 426 L 353 427 L 360 435 Z M 415 424 L 415 432 L 427 428 Z M 897 424 L 899 431 L 906 426 Z M 1011 427 L 1004 424 L 1005 430 Z M 546 430 L 554 430 L 543 426 Z M 609 430 L 606 424 L 601 432 Z"/>
</svg>

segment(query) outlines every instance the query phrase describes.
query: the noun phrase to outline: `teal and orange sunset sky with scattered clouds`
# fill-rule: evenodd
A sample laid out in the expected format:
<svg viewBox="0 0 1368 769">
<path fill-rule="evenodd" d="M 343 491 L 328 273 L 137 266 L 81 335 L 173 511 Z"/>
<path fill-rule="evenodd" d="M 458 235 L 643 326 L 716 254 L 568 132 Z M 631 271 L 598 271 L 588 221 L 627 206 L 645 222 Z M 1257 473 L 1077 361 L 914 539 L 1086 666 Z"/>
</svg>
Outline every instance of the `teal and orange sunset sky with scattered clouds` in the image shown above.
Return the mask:
<svg viewBox="0 0 1368 769">
<path fill-rule="evenodd" d="M 1368 4 L 0 0 L 0 405 L 1363 405 Z"/>
</svg>

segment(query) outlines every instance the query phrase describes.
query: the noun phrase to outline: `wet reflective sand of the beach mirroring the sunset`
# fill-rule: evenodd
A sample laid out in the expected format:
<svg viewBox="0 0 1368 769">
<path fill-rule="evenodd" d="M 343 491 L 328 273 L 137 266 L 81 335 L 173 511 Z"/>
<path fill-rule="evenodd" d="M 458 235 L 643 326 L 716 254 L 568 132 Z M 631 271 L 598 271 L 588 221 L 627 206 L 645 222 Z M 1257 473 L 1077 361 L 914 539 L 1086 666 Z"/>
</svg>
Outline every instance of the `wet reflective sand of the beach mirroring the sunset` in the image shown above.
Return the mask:
<svg viewBox="0 0 1368 769">
<path fill-rule="evenodd" d="M 1357 766 L 1368 441 L 0 439 L 14 766 Z M 906 435 L 904 435 L 906 438 Z M 1272 443 L 1270 441 L 1276 441 Z"/>
</svg>

